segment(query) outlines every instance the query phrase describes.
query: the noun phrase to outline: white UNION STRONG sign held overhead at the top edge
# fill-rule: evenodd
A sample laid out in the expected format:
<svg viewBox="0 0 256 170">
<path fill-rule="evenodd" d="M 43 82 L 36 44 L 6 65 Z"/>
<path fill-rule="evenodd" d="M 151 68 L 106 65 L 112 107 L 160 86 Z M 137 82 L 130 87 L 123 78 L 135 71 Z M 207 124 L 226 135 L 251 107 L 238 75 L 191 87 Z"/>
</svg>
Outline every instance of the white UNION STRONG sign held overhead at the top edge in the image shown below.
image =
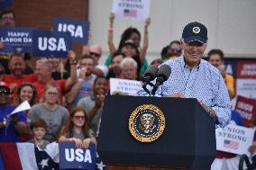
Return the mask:
<svg viewBox="0 0 256 170">
<path fill-rule="evenodd" d="M 150 17 L 151 0 L 114 0 L 112 13 L 116 18 L 144 21 Z"/>
</svg>

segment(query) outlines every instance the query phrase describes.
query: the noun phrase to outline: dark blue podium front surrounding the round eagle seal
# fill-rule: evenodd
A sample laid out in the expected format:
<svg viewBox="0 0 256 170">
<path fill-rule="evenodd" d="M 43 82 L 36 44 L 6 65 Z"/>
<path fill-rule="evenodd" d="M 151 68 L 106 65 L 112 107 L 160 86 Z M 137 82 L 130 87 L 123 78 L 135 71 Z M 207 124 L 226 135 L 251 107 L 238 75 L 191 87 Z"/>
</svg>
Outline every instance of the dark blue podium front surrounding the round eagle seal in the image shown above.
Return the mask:
<svg viewBox="0 0 256 170">
<path fill-rule="evenodd" d="M 129 130 L 131 113 L 142 104 L 165 117 L 159 139 L 143 143 Z M 107 170 L 210 169 L 215 159 L 215 122 L 197 99 L 106 96 L 97 150 Z"/>
</svg>

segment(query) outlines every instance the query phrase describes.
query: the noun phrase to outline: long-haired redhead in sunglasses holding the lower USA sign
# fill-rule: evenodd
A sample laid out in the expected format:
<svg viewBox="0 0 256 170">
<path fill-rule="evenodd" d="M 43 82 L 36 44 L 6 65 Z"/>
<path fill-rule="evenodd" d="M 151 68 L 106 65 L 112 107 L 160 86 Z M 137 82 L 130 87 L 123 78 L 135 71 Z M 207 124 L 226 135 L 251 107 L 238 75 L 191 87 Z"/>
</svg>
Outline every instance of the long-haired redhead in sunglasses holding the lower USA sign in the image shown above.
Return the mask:
<svg viewBox="0 0 256 170">
<path fill-rule="evenodd" d="M 96 144 L 94 132 L 87 123 L 87 113 L 82 107 L 75 107 L 70 112 L 69 120 L 59 133 L 59 142 L 74 141 L 78 148 L 88 148 Z"/>
</svg>

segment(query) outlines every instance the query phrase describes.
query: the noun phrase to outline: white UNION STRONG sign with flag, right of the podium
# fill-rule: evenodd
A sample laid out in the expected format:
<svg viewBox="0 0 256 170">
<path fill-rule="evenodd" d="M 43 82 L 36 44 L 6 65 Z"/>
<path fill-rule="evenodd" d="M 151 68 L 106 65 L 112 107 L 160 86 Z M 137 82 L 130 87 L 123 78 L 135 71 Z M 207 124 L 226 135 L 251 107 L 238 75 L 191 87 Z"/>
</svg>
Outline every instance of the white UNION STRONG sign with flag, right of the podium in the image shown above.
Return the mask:
<svg viewBox="0 0 256 170">
<path fill-rule="evenodd" d="M 254 130 L 229 124 L 215 130 L 216 149 L 233 154 L 247 154 L 252 145 Z"/>
</svg>

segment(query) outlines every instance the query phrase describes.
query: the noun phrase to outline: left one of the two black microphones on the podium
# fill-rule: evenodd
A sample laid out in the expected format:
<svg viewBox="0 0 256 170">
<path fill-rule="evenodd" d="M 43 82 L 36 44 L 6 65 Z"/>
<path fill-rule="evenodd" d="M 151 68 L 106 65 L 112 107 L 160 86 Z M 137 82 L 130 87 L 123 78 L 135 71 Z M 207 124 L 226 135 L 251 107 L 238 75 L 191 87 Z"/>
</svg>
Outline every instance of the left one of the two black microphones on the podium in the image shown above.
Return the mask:
<svg viewBox="0 0 256 170">
<path fill-rule="evenodd" d="M 150 65 L 149 67 L 147 67 L 145 73 L 144 73 L 144 77 L 142 79 L 142 88 L 145 90 L 145 92 L 147 92 L 148 94 L 151 95 L 150 91 L 147 89 L 147 85 L 151 85 L 151 81 L 155 79 L 157 72 L 159 71 L 158 67 L 155 67 L 153 65 Z"/>
</svg>

